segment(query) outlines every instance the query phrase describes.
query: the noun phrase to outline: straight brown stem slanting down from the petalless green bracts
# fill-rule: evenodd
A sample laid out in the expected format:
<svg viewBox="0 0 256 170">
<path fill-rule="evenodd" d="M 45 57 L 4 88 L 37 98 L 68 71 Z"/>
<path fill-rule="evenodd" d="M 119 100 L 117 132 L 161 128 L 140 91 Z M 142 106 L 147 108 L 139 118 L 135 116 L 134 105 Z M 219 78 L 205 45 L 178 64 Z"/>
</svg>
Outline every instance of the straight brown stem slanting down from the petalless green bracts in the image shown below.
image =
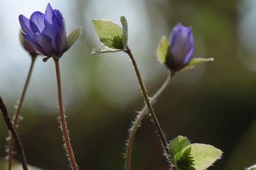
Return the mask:
<svg viewBox="0 0 256 170">
<path fill-rule="evenodd" d="M 164 146 L 164 150 L 165 150 L 166 155 L 167 155 L 167 157 L 169 159 L 169 163 L 171 164 L 171 155 L 170 155 L 170 152 L 169 152 L 168 143 L 166 141 L 166 138 L 164 137 L 164 132 L 161 130 L 161 126 L 159 124 L 159 121 L 157 120 L 156 115 L 154 113 L 154 110 L 153 110 L 153 108 L 151 106 L 151 103 L 149 101 L 149 96 L 146 93 L 146 88 L 145 88 L 144 83 L 142 81 L 142 77 L 141 77 L 141 75 L 139 73 L 139 68 L 137 67 L 137 63 L 134 60 L 134 57 L 133 57 L 132 52 L 129 49 L 129 47 L 127 47 L 127 50 L 125 52 L 127 52 L 127 54 L 129 55 L 130 59 L 132 60 L 132 64 L 134 66 L 135 73 L 137 74 L 137 78 L 138 78 L 138 81 L 139 81 L 139 86 L 142 89 L 142 94 L 144 96 L 144 100 L 146 102 L 146 106 L 149 109 L 149 113 L 150 113 L 151 118 L 152 118 L 152 120 L 154 122 L 154 125 L 156 126 L 156 130 L 159 133 L 162 145 Z"/>
</svg>

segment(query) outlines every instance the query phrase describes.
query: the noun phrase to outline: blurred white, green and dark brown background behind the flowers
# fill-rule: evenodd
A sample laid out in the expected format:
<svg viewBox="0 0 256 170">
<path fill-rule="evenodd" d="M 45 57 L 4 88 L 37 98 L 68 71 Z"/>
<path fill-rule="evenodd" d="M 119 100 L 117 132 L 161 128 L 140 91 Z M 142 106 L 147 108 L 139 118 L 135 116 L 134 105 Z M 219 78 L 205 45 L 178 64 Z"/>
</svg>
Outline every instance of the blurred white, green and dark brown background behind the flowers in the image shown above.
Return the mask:
<svg viewBox="0 0 256 170">
<path fill-rule="evenodd" d="M 125 16 L 129 47 L 149 96 L 161 86 L 167 69 L 156 47 L 176 23 L 192 26 L 194 57 L 214 62 L 181 72 L 154 105 L 169 140 L 178 135 L 223 150 L 209 169 L 244 169 L 256 164 L 256 1 L 255 0 L 0 0 L 0 95 L 12 115 L 21 95 L 31 58 L 18 40 L 18 15 L 44 12 L 48 2 L 65 17 L 67 32 L 82 35 L 60 60 L 68 129 L 80 169 L 124 169 L 129 126 L 143 107 L 137 78 L 124 52 L 90 55 L 102 47 L 91 18 L 118 23 Z M 39 169 L 69 169 L 58 123 L 53 60 L 38 57 L 23 106 L 18 133 L 28 164 Z M 6 137 L 0 123 L 1 169 Z M 14 156 L 18 160 L 18 155 Z M 164 170 L 166 161 L 149 117 L 137 132 L 132 169 Z"/>
</svg>

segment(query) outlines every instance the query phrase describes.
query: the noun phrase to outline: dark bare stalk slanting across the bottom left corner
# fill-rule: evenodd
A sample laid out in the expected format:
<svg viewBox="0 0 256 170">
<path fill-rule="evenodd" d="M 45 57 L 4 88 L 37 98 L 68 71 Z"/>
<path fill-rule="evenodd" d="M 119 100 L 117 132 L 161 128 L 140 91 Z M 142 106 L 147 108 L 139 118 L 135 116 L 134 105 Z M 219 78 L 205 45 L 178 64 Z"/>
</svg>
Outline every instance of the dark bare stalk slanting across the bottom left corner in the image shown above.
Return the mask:
<svg viewBox="0 0 256 170">
<path fill-rule="evenodd" d="M 21 157 L 21 164 L 23 166 L 23 170 L 28 170 L 28 165 L 26 163 L 26 157 L 25 157 L 25 154 L 23 151 L 21 140 L 18 137 L 18 133 L 16 132 L 14 125 L 11 123 L 11 119 L 9 117 L 7 108 L 4 104 L 4 101 L 1 98 L 1 96 L 0 96 L 0 109 L 1 109 L 1 112 L 3 113 L 4 121 L 6 122 L 6 126 L 11 131 L 11 135 L 14 137 L 14 142 L 16 143 L 18 154 Z"/>
</svg>

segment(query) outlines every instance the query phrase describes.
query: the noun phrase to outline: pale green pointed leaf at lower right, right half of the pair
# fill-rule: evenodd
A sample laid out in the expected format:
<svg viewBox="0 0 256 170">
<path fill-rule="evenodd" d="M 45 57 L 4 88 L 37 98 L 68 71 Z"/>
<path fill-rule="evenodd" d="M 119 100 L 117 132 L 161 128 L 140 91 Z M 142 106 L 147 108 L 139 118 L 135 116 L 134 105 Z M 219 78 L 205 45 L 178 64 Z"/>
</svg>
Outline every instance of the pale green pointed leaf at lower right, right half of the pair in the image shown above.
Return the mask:
<svg viewBox="0 0 256 170">
<path fill-rule="evenodd" d="M 217 159 L 222 156 L 222 151 L 213 147 L 212 145 L 205 144 L 192 144 L 191 157 L 193 157 L 193 167 L 196 170 L 207 169 Z"/>
</svg>

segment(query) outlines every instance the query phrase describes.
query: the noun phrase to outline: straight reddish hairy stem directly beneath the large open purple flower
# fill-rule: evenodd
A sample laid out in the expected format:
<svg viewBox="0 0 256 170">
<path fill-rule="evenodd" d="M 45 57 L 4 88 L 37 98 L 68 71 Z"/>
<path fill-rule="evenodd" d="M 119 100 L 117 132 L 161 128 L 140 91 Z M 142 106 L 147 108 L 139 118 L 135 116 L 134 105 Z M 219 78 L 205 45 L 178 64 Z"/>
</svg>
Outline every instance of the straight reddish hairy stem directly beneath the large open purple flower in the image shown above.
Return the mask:
<svg viewBox="0 0 256 170">
<path fill-rule="evenodd" d="M 60 124 L 61 128 L 63 130 L 63 137 L 65 141 L 65 146 L 68 152 L 69 161 L 71 163 L 71 166 L 73 170 L 78 170 L 78 165 L 75 162 L 75 156 L 73 154 L 73 149 L 70 143 L 70 137 L 68 135 L 68 128 L 67 123 L 65 120 L 65 113 L 64 113 L 64 107 L 63 107 L 63 98 L 62 98 L 62 91 L 61 91 L 61 82 L 60 82 L 60 65 L 59 60 L 57 57 L 53 57 L 53 60 L 55 62 L 55 69 L 56 69 L 56 78 L 57 78 L 57 86 L 58 86 L 58 101 L 59 101 L 59 107 L 60 107 Z"/>
</svg>

